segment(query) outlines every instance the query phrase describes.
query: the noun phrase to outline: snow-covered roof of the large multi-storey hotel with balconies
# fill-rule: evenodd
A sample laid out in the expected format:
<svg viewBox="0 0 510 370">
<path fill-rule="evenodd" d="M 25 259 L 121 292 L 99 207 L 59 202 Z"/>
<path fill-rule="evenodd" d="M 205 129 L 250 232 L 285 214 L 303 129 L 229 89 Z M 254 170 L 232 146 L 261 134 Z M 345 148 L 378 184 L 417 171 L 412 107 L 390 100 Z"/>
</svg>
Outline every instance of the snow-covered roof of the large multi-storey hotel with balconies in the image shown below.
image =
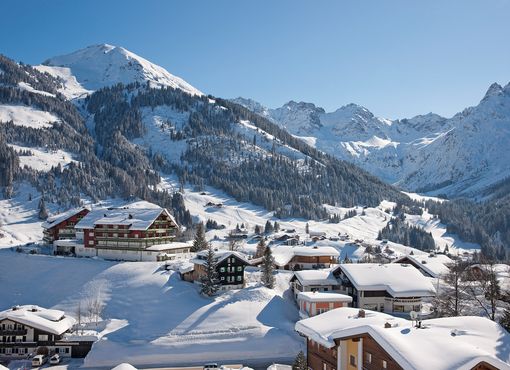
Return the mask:
<svg viewBox="0 0 510 370">
<path fill-rule="evenodd" d="M 147 230 L 162 212 L 177 225 L 173 216 L 164 208 L 123 207 L 95 209 L 83 217 L 75 228 L 93 229 L 96 225 L 127 225 L 129 230 Z"/>
</svg>

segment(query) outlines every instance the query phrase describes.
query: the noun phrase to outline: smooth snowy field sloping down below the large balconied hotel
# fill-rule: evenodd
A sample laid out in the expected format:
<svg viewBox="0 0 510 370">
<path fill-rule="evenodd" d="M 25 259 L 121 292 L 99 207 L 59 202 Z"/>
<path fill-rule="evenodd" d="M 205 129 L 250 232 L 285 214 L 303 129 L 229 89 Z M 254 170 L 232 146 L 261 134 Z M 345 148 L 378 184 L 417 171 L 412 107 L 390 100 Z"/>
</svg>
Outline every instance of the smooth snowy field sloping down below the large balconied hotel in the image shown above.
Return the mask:
<svg viewBox="0 0 510 370">
<path fill-rule="evenodd" d="M 252 281 L 247 288 L 209 299 L 156 262 L 115 263 L 1 250 L 0 310 L 34 303 L 72 316 L 79 301 L 101 296 L 102 318 L 108 320 L 110 332 L 103 332 L 86 357 L 84 366 L 90 368 L 121 362 L 291 361 L 303 349 L 303 340 L 294 332 L 297 308 L 286 291 L 291 273 L 278 274 L 274 290 L 261 287 L 257 275 L 247 273 Z"/>
</svg>

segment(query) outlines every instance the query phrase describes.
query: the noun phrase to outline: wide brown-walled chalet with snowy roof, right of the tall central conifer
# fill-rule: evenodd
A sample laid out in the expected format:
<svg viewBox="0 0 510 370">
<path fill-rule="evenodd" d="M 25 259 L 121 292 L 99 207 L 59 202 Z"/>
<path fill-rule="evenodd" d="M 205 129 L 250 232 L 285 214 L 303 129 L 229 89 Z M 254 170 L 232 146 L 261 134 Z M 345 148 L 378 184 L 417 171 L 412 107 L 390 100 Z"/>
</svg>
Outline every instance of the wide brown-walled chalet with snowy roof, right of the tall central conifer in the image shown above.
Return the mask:
<svg viewBox="0 0 510 370">
<path fill-rule="evenodd" d="M 338 263 L 340 253 L 333 247 L 278 246 L 271 252 L 275 265 L 283 270 L 328 268 Z"/>
</svg>

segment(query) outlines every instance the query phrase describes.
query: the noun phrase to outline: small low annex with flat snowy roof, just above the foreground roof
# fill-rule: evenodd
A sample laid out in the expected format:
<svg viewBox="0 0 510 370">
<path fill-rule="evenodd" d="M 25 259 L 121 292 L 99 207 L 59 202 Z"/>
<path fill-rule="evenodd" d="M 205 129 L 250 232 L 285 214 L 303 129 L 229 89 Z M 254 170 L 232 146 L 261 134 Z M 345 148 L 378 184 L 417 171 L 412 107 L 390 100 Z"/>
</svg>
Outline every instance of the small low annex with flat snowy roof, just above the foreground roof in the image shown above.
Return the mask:
<svg viewBox="0 0 510 370">
<path fill-rule="evenodd" d="M 352 297 L 348 295 L 330 292 L 302 292 L 297 297 L 299 316 L 303 319 L 335 308 L 347 307 L 351 302 Z"/>
</svg>

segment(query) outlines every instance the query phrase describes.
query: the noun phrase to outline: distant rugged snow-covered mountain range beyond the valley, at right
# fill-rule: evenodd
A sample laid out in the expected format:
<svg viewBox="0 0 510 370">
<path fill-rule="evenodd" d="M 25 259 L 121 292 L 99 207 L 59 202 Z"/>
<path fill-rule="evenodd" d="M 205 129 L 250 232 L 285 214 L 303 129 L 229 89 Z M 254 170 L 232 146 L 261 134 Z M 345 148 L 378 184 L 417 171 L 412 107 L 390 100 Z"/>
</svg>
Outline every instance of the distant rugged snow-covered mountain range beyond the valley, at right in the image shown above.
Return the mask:
<svg viewBox="0 0 510 370">
<path fill-rule="evenodd" d="M 408 190 L 476 196 L 510 176 L 510 84 L 493 84 L 479 105 L 450 119 L 429 113 L 391 121 L 356 104 L 325 112 L 312 103 L 269 109 L 249 99 L 234 101 Z"/>
</svg>

